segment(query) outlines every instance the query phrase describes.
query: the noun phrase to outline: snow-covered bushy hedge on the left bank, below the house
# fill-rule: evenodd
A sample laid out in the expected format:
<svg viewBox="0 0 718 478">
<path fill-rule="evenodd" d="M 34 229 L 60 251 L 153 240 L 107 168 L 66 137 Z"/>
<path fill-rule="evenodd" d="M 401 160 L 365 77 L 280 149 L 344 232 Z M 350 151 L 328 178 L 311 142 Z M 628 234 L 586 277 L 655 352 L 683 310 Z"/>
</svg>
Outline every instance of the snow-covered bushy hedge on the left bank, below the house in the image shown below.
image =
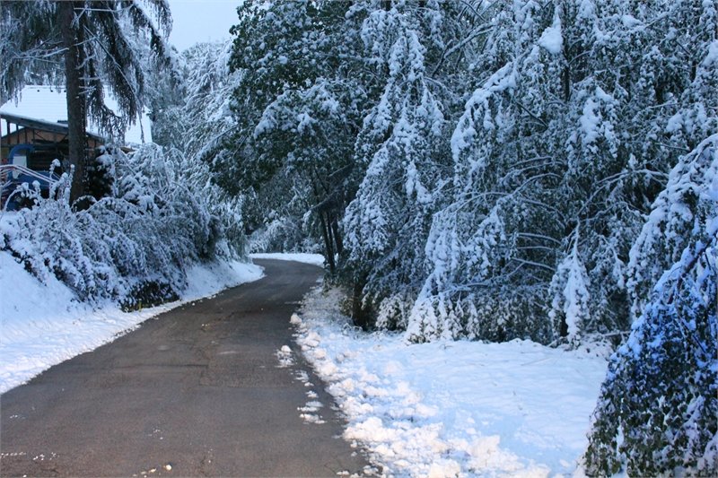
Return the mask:
<svg viewBox="0 0 718 478">
<path fill-rule="evenodd" d="M 177 297 L 189 265 L 243 255 L 239 204 L 222 200 L 203 165 L 156 144 L 98 160 L 109 196 L 75 211 L 65 175 L 0 226 L 0 249 L 40 281 L 55 275 L 80 300 L 135 309 Z"/>
</svg>

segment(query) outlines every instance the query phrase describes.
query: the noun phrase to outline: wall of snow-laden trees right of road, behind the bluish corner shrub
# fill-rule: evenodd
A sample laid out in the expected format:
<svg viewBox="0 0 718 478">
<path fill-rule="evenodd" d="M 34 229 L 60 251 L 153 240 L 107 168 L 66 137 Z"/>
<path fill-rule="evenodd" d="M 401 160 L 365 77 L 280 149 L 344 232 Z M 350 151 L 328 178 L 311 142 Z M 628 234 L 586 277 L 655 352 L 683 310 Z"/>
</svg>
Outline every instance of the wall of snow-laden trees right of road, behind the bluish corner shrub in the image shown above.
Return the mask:
<svg viewBox="0 0 718 478">
<path fill-rule="evenodd" d="M 618 342 L 677 260 L 644 271 L 631 248 L 679 156 L 718 127 L 713 2 L 239 14 L 232 153 L 213 169 L 251 198 L 258 245 L 321 239 L 361 325 Z"/>
</svg>

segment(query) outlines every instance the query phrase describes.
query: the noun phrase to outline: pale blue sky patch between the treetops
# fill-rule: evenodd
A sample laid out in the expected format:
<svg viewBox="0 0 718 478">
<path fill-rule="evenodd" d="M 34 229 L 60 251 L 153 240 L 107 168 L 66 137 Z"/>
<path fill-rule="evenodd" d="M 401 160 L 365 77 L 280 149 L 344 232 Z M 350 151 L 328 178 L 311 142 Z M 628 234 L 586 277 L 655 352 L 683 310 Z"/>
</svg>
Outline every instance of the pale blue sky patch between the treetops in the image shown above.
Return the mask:
<svg viewBox="0 0 718 478">
<path fill-rule="evenodd" d="M 172 12 L 170 43 L 183 51 L 195 43 L 230 38 L 241 0 L 168 0 Z"/>
</svg>

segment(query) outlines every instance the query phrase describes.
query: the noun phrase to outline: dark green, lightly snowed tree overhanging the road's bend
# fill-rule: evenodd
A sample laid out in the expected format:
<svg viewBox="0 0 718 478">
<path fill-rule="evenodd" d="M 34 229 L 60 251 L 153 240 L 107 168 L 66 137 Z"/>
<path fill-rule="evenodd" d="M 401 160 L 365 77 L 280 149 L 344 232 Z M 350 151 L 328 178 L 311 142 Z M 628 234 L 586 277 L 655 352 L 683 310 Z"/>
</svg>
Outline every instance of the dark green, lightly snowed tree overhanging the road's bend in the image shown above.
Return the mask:
<svg viewBox="0 0 718 478">
<path fill-rule="evenodd" d="M 245 2 L 230 65 L 236 156 L 215 161 L 224 187 L 257 199 L 250 228 L 302 224 L 330 268 L 343 250 L 338 222 L 373 73 L 356 55 L 361 9 L 343 2 Z"/>
</svg>

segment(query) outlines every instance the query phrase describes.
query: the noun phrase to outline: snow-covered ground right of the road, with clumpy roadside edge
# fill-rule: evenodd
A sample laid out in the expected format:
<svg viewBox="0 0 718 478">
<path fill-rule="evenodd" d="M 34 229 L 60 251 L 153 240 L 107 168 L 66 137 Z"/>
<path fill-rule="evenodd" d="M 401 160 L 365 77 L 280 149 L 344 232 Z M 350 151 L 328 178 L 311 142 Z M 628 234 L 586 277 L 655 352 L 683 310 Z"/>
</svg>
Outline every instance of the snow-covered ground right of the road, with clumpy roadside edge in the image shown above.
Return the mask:
<svg viewBox="0 0 718 478">
<path fill-rule="evenodd" d="M 292 323 L 346 414 L 345 438 L 368 449 L 384 474 L 582 474 L 606 351 L 528 341 L 409 345 L 401 335 L 356 330 L 340 299 L 314 291 Z M 277 355 L 290 360 L 288 350 Z"/>
</svg>

